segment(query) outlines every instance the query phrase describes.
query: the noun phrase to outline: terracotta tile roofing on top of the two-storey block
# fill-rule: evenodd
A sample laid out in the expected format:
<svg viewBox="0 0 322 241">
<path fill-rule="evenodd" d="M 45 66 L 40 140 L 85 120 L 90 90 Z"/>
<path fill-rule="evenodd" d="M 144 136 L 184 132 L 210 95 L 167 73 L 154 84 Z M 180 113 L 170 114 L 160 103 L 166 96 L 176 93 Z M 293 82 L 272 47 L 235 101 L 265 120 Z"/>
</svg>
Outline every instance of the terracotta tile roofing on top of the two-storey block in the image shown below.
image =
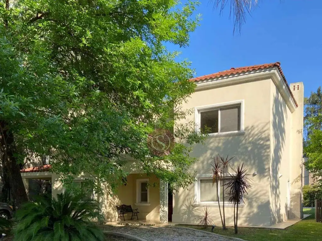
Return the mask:
<svg viewBox="0 0 322 241">
<path fill-rule="evenodd" d="M 253 66 L 247 66 L 247 67 L 231 68 L 229 70 L 220 71 L 220 72 L 213 73 L 210 75 L 199 76 L 199 77 L 190 79 L 190 81 L 199 82 L 199 81 L 204 81 L 204 80 L 209 80 L 209 79 L 216 79 L 216 78 L 220 78 L 223 76 L 238 75 L 238 74 L 242 74 L 242 73 L 246 73 L 246 72 L 250 72 L 250 71 L 256 71 L 256 70 L 272 68 L 272 67 L 278 68 L 280 75 L 282 76 L 285 84 L 287 85 L 287 87 L 289 89 L 289 94 L 291 95 L 296 107 L 298 107 L 298 103 L 296 102 L 296 100 L 291 92 L 291 89 L 289 88 L 289 84 L 287 83 L 287 80 L 283 74 L 283 71 L 282 71 L 282 68 L 280 67 L 279 62 L 270 63 L 270 64 L 262 64 L 262 65 L 253 65 Z"/>
</svg>

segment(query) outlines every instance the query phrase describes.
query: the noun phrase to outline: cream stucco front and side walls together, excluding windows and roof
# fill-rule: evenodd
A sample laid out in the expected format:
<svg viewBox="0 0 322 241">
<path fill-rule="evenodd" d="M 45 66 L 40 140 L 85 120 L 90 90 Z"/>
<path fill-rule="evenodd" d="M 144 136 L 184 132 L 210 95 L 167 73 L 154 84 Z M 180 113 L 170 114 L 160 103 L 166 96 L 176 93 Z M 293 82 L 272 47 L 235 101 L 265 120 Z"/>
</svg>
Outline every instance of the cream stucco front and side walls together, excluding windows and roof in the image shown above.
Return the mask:
<svg viewBox="0 0 322 241">
<path fill-rule="evenodd" d="M 211 158 L 220 155 L 235 156 L 233 166 L 244 163 L 248 168 L 252 189 L 245 205 L 239 211 L 239 225 L 269 226 L 299 217 L 303 129 L 303 93 L 294 94 L 299 107 L 294 111 L 281 94 L 272 78 L 254 79 L 238 84 L 218 85 L 200 89 L 183 103 L 183 109 L 242 100 L 244 103 L 244 134 L 226 137 L 208 137 L 204 145 L 194 147 L 192 156 L 199 159 L 192 167 L 198 175 L 210 175 Z M 301 84 L 301 86 L 303 86 Z M 285 90 L 285 89 L 284 89 Z M 287 94 L 286 94 L 287 95 Z M 289 95 L 289 94 L 288 94 Z M 294 112 L 292 112 L 294 111 Z M 194 121 L 194 114 L 182 122 Z M 297 131 L 295 131 L 297 130 Z M 296 151 L 295 151 L 296 149 Z M 290 195 L 288 195 L 290 182 Z M 202 215 L 203 205 L 196 204 L 193 184 L 174 195 L 173 222 L 196 223 Z M 215 187 L 214 187 L 215 191 Z M 288 199 L 290 211 L 288 212 Z M 211 216 L 221 223 L 218 207 L 211 204 Z M 233 224 L 233 208 L 226 207 L 226 223 Z M 298 215 L 294 215 L 298 213 Z"/>
</svg>

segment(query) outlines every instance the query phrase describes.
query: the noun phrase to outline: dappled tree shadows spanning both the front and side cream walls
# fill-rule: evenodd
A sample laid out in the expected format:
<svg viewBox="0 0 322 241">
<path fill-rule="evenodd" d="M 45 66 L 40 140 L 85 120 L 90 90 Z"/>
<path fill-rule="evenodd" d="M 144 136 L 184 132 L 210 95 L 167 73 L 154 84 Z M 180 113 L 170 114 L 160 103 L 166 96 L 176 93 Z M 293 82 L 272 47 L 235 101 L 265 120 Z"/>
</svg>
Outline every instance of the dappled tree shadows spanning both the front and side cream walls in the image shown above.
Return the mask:
<svg viewBox="0 0 322 241">
<path fill-rule="evenodd" d="M 202 166 L 198 163 L 194 165 L 194 171 L 198 173 L 209 173 L 211 176 L 211 158 L 218 153 L 223 156 L 235 156 L 232 159 L 233 167 L 243 162 L 248 168 L 252 189 L 249 190 L 244 207 L 239 210 L 239 223 L 242 225 L 271 225 L 282 221 L 283 215 L 287 214 L 287 200 L 283 199 L 281 206 L 279 183 L 286 139 L 287 106 L 279 94 L 274 95 L 273 101 L 271 123 L 259 122 L 246 126 L 245 134 L 241 136 L 208 138 L 205 145 L 198 145 L 192 153 L 192 156 L 198 157 L 203 163 Z M 270 137 L 273 138 L 272 142 Z M 200 171 L 200 168 L 203 171 Z M 254 172 L 257 172 L 257 175 L 253 175 Z M 284 178 L 287 185 L 287 176 Z M 191 199 L 191 192 L 194 192 L 193 188 L 189 192 L 177 192 L 177 197 L 174 197 L 176 203 L 179 200 L 185 203 L 179 204 L 178 214 L 186 223 L 195 223 L 196 216 L 201 215 L 203 208 L 200 205 L 197 207 L 195 200 Z M 233 208 L 226 207 L 225 211 L 226 222 L 233 224 Z M 211 207 L 211 212 L 215 214 L 212 216 L 214 222 L 219 224 L 221 221 L 218 207 Z"/>
</svg>

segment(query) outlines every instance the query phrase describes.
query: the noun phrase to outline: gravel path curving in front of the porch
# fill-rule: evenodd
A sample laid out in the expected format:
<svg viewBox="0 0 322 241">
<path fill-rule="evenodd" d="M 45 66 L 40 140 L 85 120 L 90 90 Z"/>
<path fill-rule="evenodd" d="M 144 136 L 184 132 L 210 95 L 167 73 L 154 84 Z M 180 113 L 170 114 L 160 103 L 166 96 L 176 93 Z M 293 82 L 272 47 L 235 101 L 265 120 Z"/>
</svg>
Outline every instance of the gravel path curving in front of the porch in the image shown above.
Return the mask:
<svg viewBox="0 0 322 241">
<path fill-rule="evenodd" d="M 212 233 L 172 226 L 104 225 L 101 228 L 105 231 L 134 235 L 147 241 L 236 241 Z"/>
</svg>

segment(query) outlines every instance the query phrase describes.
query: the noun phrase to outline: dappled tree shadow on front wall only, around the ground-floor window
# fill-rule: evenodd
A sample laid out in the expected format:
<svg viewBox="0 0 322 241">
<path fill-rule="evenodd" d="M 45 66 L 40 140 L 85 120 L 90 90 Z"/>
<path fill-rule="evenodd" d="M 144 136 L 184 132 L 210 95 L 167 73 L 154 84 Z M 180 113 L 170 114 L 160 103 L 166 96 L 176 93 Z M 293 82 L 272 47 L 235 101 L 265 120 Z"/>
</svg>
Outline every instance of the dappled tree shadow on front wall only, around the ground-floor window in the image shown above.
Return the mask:
<svg viewBox="0 0 322 241">
<path fill-rule="evenodd" d="M 270 216 L 269 207 L 269 190 L 268 185 L 270 181 L 270 128 L 269 123 L 258 123 L 254 126 L 245 128 L 245 134 L 241 136 L 232 137 L 220 137 L 220 138 L 208 138 L 205 145 L 198 145 L 194 148 L 192 156 L 197 156 L 200 162 L 194 165 L 194 171 L 198 173 L 204 173 L 211 176 L 211 164 L 212 157 L 218 153 L 223 156 L 235 156 L 232 159 L 232 167 L 236 167 L 238 163 L 244 162 L 248 167 L 248 173 L 250 174 L 250 180 L 253 188 L 249 191 L 249 195 L 246 198 L 246 204 L 239 210 L 239 220 L 243 225 L 256 225 L 253 220 L 249 220 L 252 216 Z M 203 171 L 200 171 L 200 168 Z M 232 172 L 232 170 L 229 170 Z M 257 172 L 257 175 L 252 174 Z M 214 187 L 214 192 L 216 188 Z M 202 213 L 202 206 L 196 207 L 195 200 L 191 199 L 191 193 L 194 190 L 188 192 L 176 192 L 175 203 L 179 200 L 185 204 L 180 206 L 179 211 L 181 218 L 186 223 L 195 223 L 196 216 L 200 216 Z M 267 197 L 267 198 L 266 198 Z M 189 200 L 189 201 L 185 201 Z M 226 207 L 226 221 L 233 224 L 233 208 Z M 211 213 L 213 221 L 219 224 L 220 216 L 218 207 L 211 207 Z M 269 225 L 269 224 L 267 224 Z"/>
</svg>

